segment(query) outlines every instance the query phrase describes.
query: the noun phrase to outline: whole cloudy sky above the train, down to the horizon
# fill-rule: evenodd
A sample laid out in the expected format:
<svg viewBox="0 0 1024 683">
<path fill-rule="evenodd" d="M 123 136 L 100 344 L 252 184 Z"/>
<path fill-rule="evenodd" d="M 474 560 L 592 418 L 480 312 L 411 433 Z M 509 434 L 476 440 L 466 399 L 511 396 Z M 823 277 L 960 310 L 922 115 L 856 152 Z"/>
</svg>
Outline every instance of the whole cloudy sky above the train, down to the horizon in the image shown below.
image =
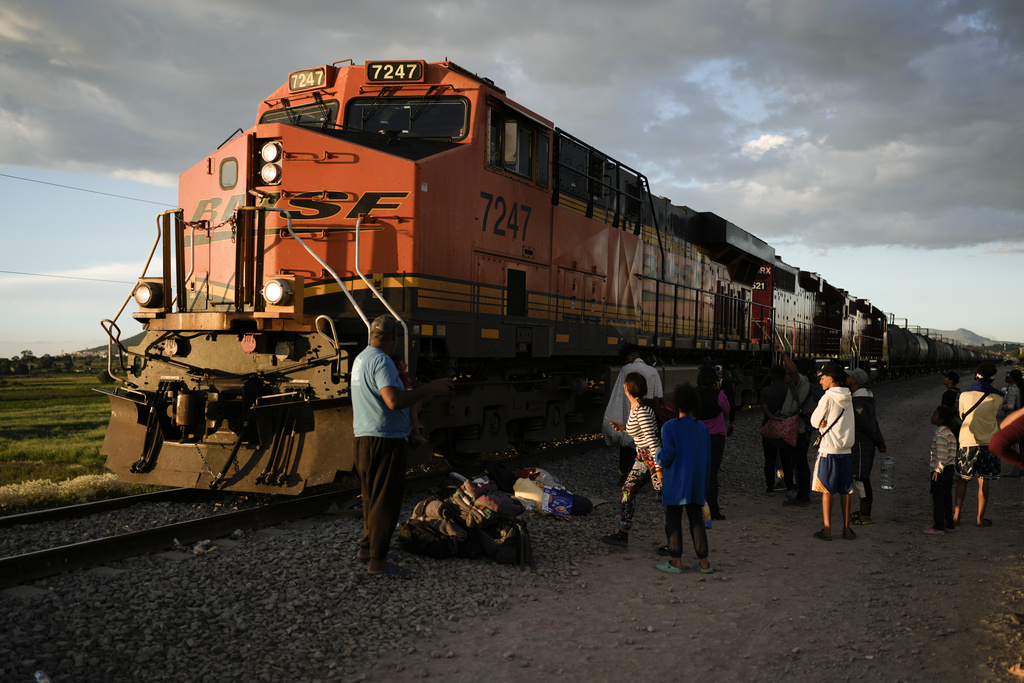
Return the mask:
<svg viewBox="0 0 1024 683">
<path fill-rule="evenodd" d="M 4 0 L 0 355 L 101 343 L 178 173 L 348 58 L 452 59 L 901 322 L 1024 341 L 1022 31 L 1020 0 Z"/>
</svg>

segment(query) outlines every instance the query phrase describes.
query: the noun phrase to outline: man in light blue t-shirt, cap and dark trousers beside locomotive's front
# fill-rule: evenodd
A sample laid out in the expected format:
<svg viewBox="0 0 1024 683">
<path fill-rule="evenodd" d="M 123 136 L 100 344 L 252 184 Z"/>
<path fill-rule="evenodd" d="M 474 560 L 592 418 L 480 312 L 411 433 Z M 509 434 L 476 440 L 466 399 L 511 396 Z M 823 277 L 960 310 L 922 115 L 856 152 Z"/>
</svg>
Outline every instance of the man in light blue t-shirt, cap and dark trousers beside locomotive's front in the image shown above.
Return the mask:
<svg viewBox="0 0 1024 683">
<path fill-rule="evenodd" d="M 352 434 L 355 472 L 362 494 L 362 538 L 356 557 L 369 561 L 372 575 L 407 575 L 387 561 L 398 522 L 412 430 L 409 408 L 453 387 L 450 378 L 406 390 L 390 354 L 397 345 L 397 324 L 381 315 L 370 326 L 370 344 L 352 361 Z"/>
</svg>

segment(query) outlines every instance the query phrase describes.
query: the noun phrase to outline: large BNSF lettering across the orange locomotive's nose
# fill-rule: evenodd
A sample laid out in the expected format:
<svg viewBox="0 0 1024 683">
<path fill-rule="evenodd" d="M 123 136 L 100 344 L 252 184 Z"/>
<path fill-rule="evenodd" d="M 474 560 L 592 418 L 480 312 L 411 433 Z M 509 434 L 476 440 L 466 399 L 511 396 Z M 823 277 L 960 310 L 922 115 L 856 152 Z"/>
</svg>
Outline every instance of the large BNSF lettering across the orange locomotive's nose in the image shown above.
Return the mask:
<svg viewBox="0 0 1024 683">
<path fill-rule="evenodd" d="M 358 218 L 359 214 L 369 214 L 374 210 L 393 211 L 401 207 L 400 201 L 409 197 L 409 193 L 366 193 L 352 207 L 346 218 Z M 261 207 L 285 209 L 293 211 L 296 220 L 327 220 L 341 213 L 340 202 L 351 202 L 354 196 L 350 193 L 300 193 L 288 198 L 282 204 L 281 193 L 271 193 L 260 201 Z M 245 195 L 231 195 L 224 203 L 222 197 L 210 197 L 196 203 L 191 222 L 209 221 L 216 225 L 231 217 L 234 210 L 245 204 Z M 223 205 L 223 207 L 221 207 Z M 528 211 L 528 209 L 527 209 Z"/>
</svg>

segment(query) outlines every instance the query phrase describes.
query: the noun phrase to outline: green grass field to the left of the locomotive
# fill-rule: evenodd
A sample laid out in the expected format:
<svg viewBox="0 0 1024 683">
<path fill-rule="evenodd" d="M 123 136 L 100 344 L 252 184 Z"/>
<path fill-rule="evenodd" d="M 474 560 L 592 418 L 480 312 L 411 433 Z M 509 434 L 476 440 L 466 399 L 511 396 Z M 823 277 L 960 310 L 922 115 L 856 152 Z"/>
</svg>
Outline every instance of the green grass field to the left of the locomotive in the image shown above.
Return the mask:
<svg viewBox="0 0 1024 683">
<path fill-rule="evenodd" d="M 99 455 L 111 410 L 98 385 L 93 374 L 0 380 L 0 512 L 117 495 Z"/>
</svg>

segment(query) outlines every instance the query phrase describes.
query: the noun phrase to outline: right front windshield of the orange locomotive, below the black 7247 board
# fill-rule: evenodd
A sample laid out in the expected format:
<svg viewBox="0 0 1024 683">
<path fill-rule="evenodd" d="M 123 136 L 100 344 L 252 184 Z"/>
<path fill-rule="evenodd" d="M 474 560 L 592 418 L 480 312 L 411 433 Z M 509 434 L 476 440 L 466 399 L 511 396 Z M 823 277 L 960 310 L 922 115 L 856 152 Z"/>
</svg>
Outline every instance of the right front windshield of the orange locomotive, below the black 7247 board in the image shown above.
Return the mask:
<svg viewBox="0 0 1024 683">
<path fill-rule="evenodd" d="M 462 97 L 353 99 L 345 108 L 345 128 L 398 137 L 461 139 L 469 128 L 469 104 Z"/>
</svg>

